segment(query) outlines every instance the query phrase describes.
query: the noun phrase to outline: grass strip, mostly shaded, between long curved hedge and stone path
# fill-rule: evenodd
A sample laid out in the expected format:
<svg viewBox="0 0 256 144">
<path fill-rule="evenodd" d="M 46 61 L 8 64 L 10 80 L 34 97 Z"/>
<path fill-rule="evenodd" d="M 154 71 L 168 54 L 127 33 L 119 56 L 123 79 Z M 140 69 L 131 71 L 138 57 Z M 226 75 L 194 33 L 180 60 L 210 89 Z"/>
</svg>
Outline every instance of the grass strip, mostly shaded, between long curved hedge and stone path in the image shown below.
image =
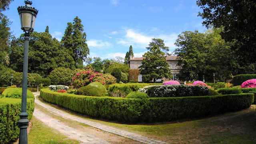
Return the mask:
<svg viewBox="0 0 256 144">
<path fill-rule="evenodd" d="M 62 109 L 53 104 L 49 105 Z M 201 119 L 155 124 L 119 124 L 92 119 L 88 116 L 79 116 L 86 120 L 164 140 L 172 144 L 256 144 L 255 107 L 252 105 L 251 108 L 239 112 Z M 68 112 L 77 115 L 75 112 Z"/>
</svg>

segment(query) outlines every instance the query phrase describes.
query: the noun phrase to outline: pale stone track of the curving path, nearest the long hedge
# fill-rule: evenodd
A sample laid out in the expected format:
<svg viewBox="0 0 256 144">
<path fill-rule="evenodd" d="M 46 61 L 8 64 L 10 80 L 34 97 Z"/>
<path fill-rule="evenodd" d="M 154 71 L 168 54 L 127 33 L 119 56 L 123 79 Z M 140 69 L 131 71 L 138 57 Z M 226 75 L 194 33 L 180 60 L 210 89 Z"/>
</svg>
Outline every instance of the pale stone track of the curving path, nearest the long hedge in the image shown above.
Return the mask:
<svg viewBox="0 0 256 144">
<path fill-rule="evenodd" d="M 59 110 L 57 108 L 54 108 L 54 107 L 52 107 L 52 106 L 50 106 L 48 104 L 45 104 L 45 103 L 41 102 L 38 99 L 38 96 L 40 95 L 40 93 L 34 93 L 34 95 L 35 95 L 35 103 L 36 104 L 38 104 L 38 105 L 44 107 L 45 109 L 49 110 L 54 115 L 61 116 L 62 118 L 66 118 L 66 119 L 69 119 L 69 120 L 74 120 L 76 122 L 80 122 L 82 124 L 86 124 L 88 126 L 92 126 L 94 128 L 98 128 L 98 129 L 100 129 L 102 131 L 109 132 L 109 133 L 112 133 L 112 134 L 116 134 L 118 136 L 123 136 L 125 138 L 130 138 L 132 140 L 135 140 L 137 142 L 141 142 L 141 143 L 144 143 L 144 144 L 167 144 L 166 142 L 163 142 L 163 141 L 160 141 L 160 140 L 156 140 L 156 139 L 153 139 L 153 138 L 148 138 L 146 136 L 135 134 L 133 132 L 128 132 L 128 131 L 121 130 L 121 129 L 118 129 L 118 128 L 113 128 L 111 126 L 106 126 L 106 125 L 100 124 L 98 122 L 92 122 L 90 120 L 86 120 L 84 118 L 80 118 L 79 116 L 75 116 L 75 115 L 69 114 L 68 112 L 66 112 L 64 110 Z M 39 110 L 35 109 L 34 115 L 38 116 L 39 112 L 40 112 Z M 41 120 L 41 118 L 39 118 L 39 119 Z M 46 118 L 44 116 L 42 116 L 42 120 L 44 120 L 44 119 L 46 119 Z M 56 125 L 55 122 L 52 123 L 52 125 Z M 74 131 L 74 132 L 76 132 L 76 131 Z M 102 144 L 105 144 L 105 143 L 102 142 Z"/>
</svg>

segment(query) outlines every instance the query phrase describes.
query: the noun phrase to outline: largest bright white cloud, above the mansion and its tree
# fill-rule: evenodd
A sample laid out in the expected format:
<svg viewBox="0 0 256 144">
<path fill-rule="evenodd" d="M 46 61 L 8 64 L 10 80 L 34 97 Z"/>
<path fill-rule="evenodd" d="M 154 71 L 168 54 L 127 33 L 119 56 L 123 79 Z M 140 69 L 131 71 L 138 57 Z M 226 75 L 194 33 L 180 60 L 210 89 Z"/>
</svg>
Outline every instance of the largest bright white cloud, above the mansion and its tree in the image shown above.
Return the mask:
<svg viewBox="0 0 256 144">
<path fill-rule="evenodd" d="M 152 41 L 152 38 L 161 38 L 164 40 L 166 46 L 170 47 L 170 51 L 174 50 L 175 40 L 178 38 L 178 34 L 159 34 L 159 35 L 147 35 L 142 32 L 138 32 L 133 29 L 126 29 L 123 38 L 117 39 L 118 44 L 125 46 L 132 45 L 134 48 L 146 48 Z"/>
</svg>

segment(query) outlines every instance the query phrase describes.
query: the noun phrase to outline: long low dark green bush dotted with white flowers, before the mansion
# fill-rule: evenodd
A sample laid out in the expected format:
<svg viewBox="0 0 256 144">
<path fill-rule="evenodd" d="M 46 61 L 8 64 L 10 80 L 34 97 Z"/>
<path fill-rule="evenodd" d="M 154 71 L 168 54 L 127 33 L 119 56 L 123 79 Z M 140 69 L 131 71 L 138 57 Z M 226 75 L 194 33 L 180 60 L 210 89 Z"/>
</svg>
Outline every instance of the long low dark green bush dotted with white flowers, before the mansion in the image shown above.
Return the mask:
<svg viewBox="0 0 256 144">
<path fill-rule="evenodd" d="M 183 96 L 208 96 L 209 89 L 204 86 L 187 85 L 156 85 L 146 86 L 139 90 L 148 94 L 150 98 L 168 98 Z"/>
</svg>

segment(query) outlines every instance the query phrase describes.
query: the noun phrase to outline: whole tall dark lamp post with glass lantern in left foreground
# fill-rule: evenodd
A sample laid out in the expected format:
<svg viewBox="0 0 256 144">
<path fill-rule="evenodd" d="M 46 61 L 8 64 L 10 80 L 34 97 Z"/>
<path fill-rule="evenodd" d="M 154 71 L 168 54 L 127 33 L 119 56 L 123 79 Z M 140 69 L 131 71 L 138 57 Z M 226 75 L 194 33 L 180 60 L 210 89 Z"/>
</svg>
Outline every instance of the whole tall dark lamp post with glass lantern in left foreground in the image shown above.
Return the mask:
<svg viewBox="0 0 256 144">
<path fill-rule="evenodd" d="M 25 32 L 24 36 L 24 59 L 23 59 L 23 77 L 22 77 L 22 102 L 20 120 L 18 121 L 20 128 L 19 144 L 28 144 L 28 113 L 27 113 L 27 87 L 28 87 L 28 44 L 30 32 L 33 32 L 36 15 L 38 10 L 33 8 L 32 1 L 25 0 L 25 6 L 19 6 L 21 29 Z"/>
</svg>

